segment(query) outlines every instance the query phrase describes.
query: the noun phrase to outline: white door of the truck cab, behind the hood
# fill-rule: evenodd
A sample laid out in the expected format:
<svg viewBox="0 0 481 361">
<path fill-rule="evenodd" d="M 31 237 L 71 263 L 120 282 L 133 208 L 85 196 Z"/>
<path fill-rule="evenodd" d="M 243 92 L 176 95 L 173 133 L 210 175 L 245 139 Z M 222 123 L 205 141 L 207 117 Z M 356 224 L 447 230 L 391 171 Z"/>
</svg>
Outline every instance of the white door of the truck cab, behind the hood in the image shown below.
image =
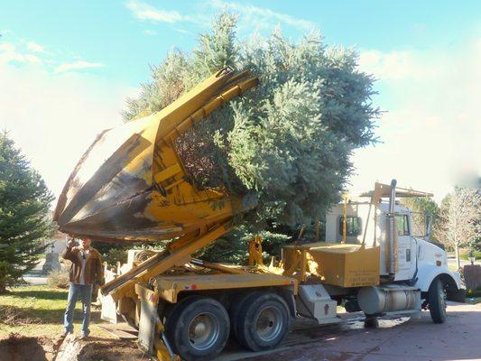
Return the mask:
<svg viewBox="0 0 481 361">
<path fill-rule="evenodd" d="M 395 281 L 411 280 L 416 267 L 416 248 L 411 236 L 411 222 L 409 213 L 396 214 L 398 232 L 397 241 L 397 270 Z"/>
</svg>

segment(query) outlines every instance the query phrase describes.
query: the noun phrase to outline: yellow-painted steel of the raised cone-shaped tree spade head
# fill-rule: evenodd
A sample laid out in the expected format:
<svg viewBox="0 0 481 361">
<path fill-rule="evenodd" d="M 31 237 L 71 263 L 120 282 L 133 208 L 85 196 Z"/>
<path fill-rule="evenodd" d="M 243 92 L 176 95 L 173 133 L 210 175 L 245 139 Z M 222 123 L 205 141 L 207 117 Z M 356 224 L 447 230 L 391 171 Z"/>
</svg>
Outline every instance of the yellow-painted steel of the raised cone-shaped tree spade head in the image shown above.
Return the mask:
<svg viewBox="0 0 481 361">
<path fill-rule="evenodd" d="M 120 125 L 99 137 L 94 143 L 95 146 L 91 148 L 92 152 L 79 162 L 74 173 L 82 170 L 82 167 L 88 169 L 94 153 L 95 162 L 118 160 L 115 167 L 122 171 L 120 182 L 125 181 L 125 185 L 119 187 L 116 183 L 116 187 L 126 189 L 129 186 L 136 187 L 137 194 L 143 193 L 144 197 L 140 200 L 137 198 L 134 214 L 125 217 L 128 218 L 129 224 L 133 225 L 131 231 L 125 231 L 126 234 L 123 234 L 123 231 L 106 229 L 104 236 L 102 231 L 94 230 L 88 236 L 99 240 L 116 241 L 171 240 L 192 230 L 226 222 L 236 213 L 244 211 L 243 197 L 230 194 L 223 187 L 197 189 L 190 181 L 174 144 L 175 139 L 188 131 L 195 122 L 255 87 L 257 83 L 258 79 L 250 77 L 247 71 L 236 74 L 233 69 L 221 69 L 161 111 Z M 102 168 L 105 163 L 100 162 L 96 165 Z M 92 175 L 95 171 L 92 170 Z M 108 190 L 110 169 L 104 167 L 102 171 L 105 174 L 103 178 L 106 181 L 105 190 Z M 73 199 L 77 192 L 75 184 L 68 181 L 60 195 L 55 211 L 56 219 L 68 208 L 69 200 Z M 78 213 L 79 218 L 98 210 L 95 196 L 88 199 L 85 204 L 85 208 Z M 123 205 L 125 206 L 125 202 Z M 114 213 L 115 208 L 114 203 L 111 206 Z M 124 208 L 121 209 L 125 212 Z M 122 219 L 119 219 L 119 222 L 122 222 Z M 60 224 L 60 229 L 62 227 L 72 235 L 89 232 L 88 229 L 75 228 L 75 222 L 71 218 L 68 224 Z M 139 227 L 138 234 L 142 235 L 137 239 L 136 227 Z"/>
</svg>

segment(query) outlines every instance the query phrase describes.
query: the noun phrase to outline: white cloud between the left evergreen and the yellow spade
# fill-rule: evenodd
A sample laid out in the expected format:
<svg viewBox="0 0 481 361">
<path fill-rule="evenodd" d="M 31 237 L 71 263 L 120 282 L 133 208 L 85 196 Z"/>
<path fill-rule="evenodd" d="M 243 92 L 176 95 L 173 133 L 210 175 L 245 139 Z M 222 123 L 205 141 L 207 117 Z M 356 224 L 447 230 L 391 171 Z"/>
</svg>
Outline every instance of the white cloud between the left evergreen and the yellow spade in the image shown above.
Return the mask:
<svg viewBox="0 0 481 361">
<path fill-rule="evenodd" d="M 0 67 L 0 129 L 6 129 L 56 196 L 102 130 L 122 123 L 132 89 L 88 73 Z M 53 205 L 54 206 L 54 205 Z"/>
</svg>

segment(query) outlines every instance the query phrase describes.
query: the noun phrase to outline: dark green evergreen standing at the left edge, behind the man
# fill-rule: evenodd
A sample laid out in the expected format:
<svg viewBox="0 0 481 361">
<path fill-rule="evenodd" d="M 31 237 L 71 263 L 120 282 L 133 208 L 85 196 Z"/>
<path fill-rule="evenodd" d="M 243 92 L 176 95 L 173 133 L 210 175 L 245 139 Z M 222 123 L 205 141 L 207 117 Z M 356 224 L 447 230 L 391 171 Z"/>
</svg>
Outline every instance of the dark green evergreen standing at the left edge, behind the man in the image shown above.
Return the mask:
<svg viewBox="0 0 481 361">
<path fill-rule="evenodd" d="M 0 293 L 22 280 L 42 255 L 51 235 L 53 199 L 5 132 L 0 134 Z"/>
</svg>

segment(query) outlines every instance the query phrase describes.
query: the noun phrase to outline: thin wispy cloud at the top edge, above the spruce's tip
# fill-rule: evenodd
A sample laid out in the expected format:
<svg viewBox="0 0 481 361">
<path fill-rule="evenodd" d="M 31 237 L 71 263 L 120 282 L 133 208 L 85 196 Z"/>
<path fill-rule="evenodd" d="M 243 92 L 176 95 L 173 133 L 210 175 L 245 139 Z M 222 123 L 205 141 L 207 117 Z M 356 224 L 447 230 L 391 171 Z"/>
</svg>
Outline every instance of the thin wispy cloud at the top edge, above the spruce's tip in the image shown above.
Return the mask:
<svg viewBox="0 0 481 361">
<path fill-rule="evenodd" d="M 215 8 L 228 9 L 241 14 L 245 23 L 249 23 L 251 27 L 272 27 L 275 23 L 291 25 L 304 31 L 312 30 L 317 27 L 315 23 L 308 20 L 300 19 L 289 14 L 276 13 L 273 10 L 264 7 L 225 2 L 222 0 L 211 0 L 209 4 Z"/>
</svg>

